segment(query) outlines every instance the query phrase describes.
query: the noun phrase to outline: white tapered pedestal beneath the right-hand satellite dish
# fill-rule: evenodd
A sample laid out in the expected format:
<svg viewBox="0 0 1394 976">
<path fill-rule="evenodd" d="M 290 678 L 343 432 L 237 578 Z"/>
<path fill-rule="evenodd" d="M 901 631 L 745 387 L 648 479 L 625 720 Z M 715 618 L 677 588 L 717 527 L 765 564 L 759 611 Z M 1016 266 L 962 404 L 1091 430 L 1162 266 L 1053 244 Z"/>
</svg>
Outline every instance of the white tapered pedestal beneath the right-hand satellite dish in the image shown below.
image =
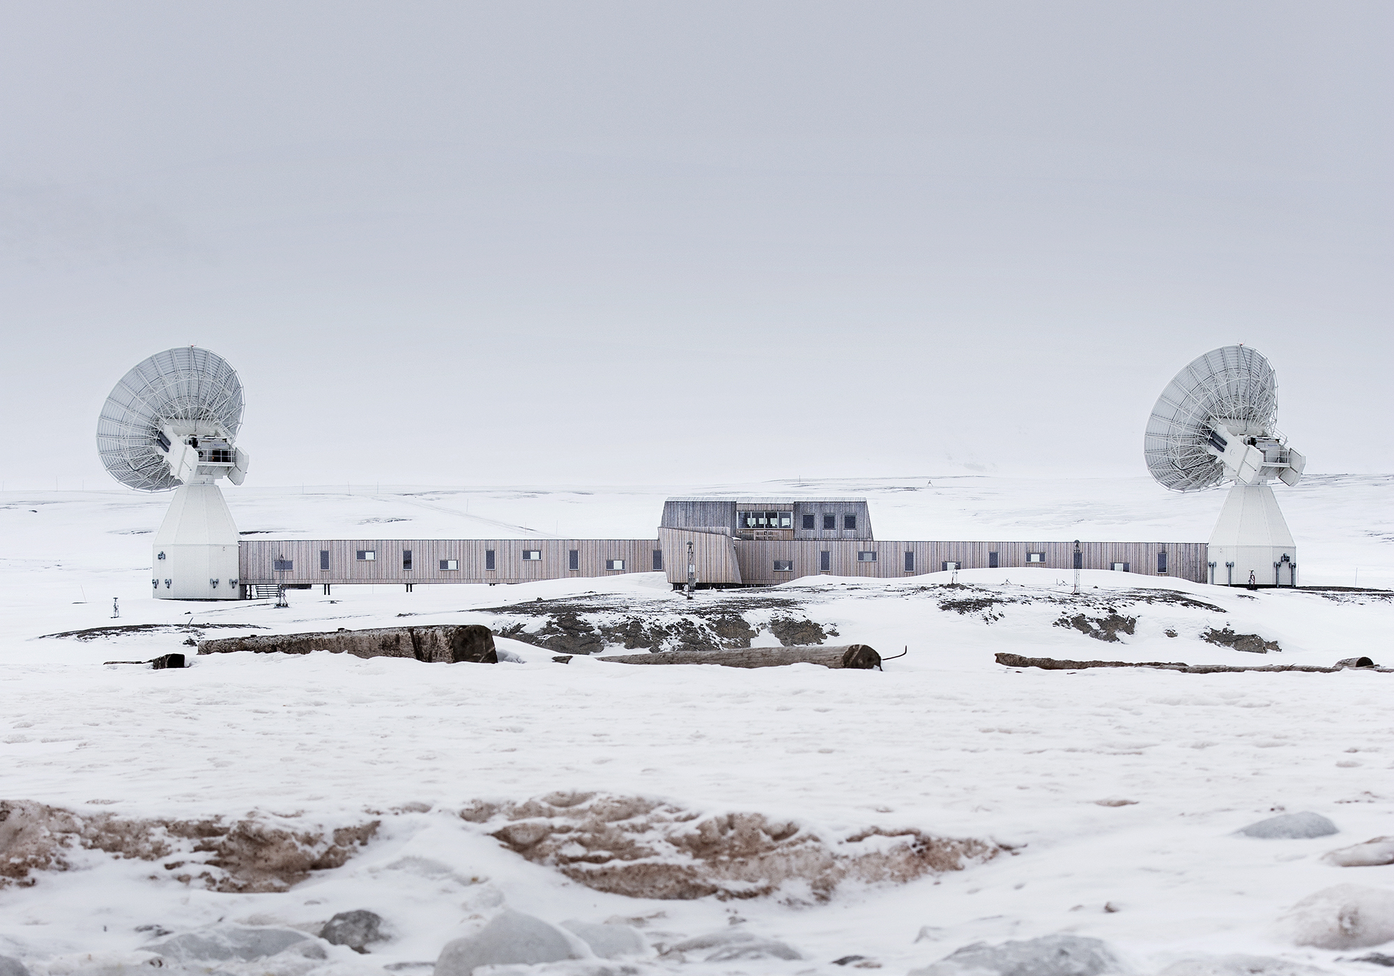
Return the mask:
<svg viewBox="0 0 1394 976">
<path fill-rule="evenodd" d="M 1298 551 L 1269 485 L 1235 485 L 1210 534 L 1213 583 L 1263 587 L 1296 586 Z"/>
</svg>

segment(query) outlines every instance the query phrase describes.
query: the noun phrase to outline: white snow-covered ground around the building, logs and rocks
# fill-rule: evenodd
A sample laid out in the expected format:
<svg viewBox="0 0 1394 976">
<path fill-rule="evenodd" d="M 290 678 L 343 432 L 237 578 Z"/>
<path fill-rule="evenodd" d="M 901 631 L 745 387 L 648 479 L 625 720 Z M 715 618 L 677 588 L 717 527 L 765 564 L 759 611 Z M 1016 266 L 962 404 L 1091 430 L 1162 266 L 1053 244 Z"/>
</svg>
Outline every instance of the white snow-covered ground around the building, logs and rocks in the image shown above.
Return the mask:
<svg viewBox="0 0 1394 976">
<path fill-rule="evenodd" d="M 376 537 L 420 538 L 650 537 L 664 496 L 698 491 L 864 494 L 878 538 L 1204 540 L 1221 502 L 1142 478 L 226 494 L 244 531 L 315 538 L 372 526 Z M 1281 502 L 1305 584 L 1348 587 L 1358 567 L 1362 587 L 1394 586 L 1394 477 L 1309 477 Z M 1249 594 L 1086 572 L 1076 597 L 1072 573 L 1032 569 L 824 577 L 701 593 L 691 604 L 658 574 L 411 594 L 336 587 L 332 597 L 293 591 L 290 609 L 183 604 L 146 597 L 149 533 L 166 503 L 123 491 L 0 495 L 0 800 L 89 820 L 379 825 L 342 866 L 289 891 L 206 890 L 197 876 L 210 855 L 188 845 L 174 860 L 74 846 L 71 870 L 0 888 L 0 955 L 25 959 L 36 976 L 137 966 L 160 930 L 224 920 L 318 931 L 350 909 L 383 916 L 392 938 L 369 955 L 337 947 L 298 968 L 222 970 L 425 973 L 445 943 L 500 905 L 553 923 L 640 919 L 659 947 L 735 922 L 802 955 L 650 956 L 631 961 L 637 972 L 835 973 L 846 969 L 834 959 L 860 955 L 864 966 L 903 973 L 969 943 L 1050 933 L 1103 938 L 1136 973 L 1232 952 L 1379 970 L 1352 961 L 1362 951 L 1295 945 L 1278 919 L 1335 884 L 1394 890 L 1394 866 L 1322 860 L 1394 834 L 1394 675 L 1064 672 L 1004 668 L 993 655 L 1330 665 L 1368 654 L 1387 664 L 1388 594 Z M 110 620 L 112 597 L 120 620 Z M 395 626 L 411 615 L 535 630 L 553 601 L 590 601 L 595 622 L 729 611 L 758 632 L 756 644 L 775 643 L 769 623 L 783 613 L 836 630 L 839 643 L 909 654 L 884 672 L 627 668 L 555 664 L 545 650 L 500 640 L 513 661 L 495 666 L 329 654 L 205 655 L 185 671 L 102 666 L 244 626 L 290 633 Z M 1079 616 L 1086 629 L 1131 619 L 1132 633 L 1098 640 L 1071 623 Z M 42 637 L 112 623 L 170 626 Z M 236 626 L 199 626 L 219 623 Z M 1259 657 L 1202 640 L 1227 626 L 1281 651 Z M 796 884 L 754 899 L 630 898 L 524 860 L 491 837 L 498 818 L 460 816 L 477 800 L 506 807 L 559 791 L 661 800 L 694 823 L 763 814 L 835 851 L 875 828 L 977 838 L 1001 853 L 905 884 L 846 881 L 827 899 Z M 1340 832 L 1235 837 L 1284 810 L 1320 813 Z M 6 830 L 0 842 L 14 839 Z"/>
</svg>

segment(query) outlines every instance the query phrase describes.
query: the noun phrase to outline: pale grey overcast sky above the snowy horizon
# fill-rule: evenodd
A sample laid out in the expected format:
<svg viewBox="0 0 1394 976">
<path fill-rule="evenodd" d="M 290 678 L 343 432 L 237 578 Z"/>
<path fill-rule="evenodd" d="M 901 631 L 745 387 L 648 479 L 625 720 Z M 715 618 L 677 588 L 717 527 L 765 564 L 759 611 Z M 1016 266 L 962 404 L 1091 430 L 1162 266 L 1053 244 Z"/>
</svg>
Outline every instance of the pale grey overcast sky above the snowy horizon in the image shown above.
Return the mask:
<svg viewBox="0 0 1394 976">
<path fill-rule="evenodd" d="M 170 346 L 248 484 L 1144 474 L 1273 361 L 1394 471 L 1374 3 L 7 3 L 0 463 Z M 1158 488 L 1160 491 L 1160 488 Z"/>
</svg>

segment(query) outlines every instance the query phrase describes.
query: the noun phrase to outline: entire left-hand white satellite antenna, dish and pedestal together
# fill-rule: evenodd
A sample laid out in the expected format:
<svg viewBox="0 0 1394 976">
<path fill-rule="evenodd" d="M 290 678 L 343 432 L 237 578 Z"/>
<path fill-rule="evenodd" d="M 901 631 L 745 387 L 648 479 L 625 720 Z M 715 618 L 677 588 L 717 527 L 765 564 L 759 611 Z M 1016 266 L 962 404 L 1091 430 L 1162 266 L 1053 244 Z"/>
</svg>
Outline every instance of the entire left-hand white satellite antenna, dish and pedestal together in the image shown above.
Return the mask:
<svg viewBox="0 0 1394 976">
<path fill-rule="evenodd" d="M 177 489 L 151 549 L 158 598 L 240 597 L 237 526 L 217 480 L 247 477 L 241 422 L 237 372 L 194 346 L 145 360 L 102 404 L 96 449 L 112 477 L 139 491 Z"/>
</svg>

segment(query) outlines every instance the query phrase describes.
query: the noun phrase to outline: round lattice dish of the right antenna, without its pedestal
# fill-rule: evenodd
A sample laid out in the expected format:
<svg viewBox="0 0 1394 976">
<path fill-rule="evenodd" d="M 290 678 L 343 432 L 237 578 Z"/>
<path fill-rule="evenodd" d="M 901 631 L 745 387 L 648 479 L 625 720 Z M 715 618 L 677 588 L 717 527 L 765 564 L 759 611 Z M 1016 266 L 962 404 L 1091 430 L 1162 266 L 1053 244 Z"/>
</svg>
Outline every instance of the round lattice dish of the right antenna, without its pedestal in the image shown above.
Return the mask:
<svg viewBox="0 0 1394 976">
<path fill-rule="evenodd" d="M 1217 485 L 1224 480 L 1224 464 L 1206 450 L 1211 418 L 1276 434 L 1277 415 L 1277 375 L 1262 353 L 1248 346 L 1210 350 L 1192 360 L 1157 397 L 1143 439 L 1147 470 L 1174 491 Z"/>
</svg>

